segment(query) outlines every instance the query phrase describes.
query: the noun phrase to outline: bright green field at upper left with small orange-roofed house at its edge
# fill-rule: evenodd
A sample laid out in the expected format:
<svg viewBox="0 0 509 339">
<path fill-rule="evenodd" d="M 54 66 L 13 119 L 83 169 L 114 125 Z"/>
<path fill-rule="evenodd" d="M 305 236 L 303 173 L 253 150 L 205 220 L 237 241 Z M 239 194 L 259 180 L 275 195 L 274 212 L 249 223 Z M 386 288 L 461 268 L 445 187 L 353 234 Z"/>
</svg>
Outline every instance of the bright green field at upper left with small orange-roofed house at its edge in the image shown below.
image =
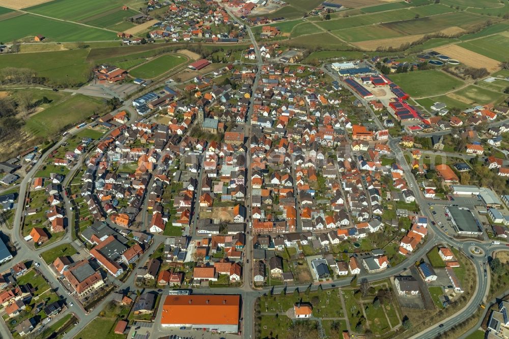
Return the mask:
<svg viewBox="0 0 509 339">
<path fill-rule="evenodd" d="M 115 40 L 114 32 L 104 31 L 80 24 L 53 20 L 39 15 L 23 14 L 0 21 L 2 41 L 9 42 L 36 35 L 43 35 L 47 41 L 101 41 Z"/>
</svg>

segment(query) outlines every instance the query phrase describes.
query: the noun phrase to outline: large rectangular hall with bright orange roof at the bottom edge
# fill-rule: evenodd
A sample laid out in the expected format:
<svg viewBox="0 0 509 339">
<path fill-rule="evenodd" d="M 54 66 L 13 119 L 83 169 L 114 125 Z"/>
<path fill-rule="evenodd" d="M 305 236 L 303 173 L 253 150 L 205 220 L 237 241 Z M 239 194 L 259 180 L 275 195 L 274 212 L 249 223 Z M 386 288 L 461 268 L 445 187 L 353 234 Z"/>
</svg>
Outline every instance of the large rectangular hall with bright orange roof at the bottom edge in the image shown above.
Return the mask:
<svg viewBox="0 0 509 339">
<path fill-rule="evenodd" d="M 161 325 L 238 332 L 239 318 L 238 295 L 169 295 L 162 305 Z"/>
</svg>

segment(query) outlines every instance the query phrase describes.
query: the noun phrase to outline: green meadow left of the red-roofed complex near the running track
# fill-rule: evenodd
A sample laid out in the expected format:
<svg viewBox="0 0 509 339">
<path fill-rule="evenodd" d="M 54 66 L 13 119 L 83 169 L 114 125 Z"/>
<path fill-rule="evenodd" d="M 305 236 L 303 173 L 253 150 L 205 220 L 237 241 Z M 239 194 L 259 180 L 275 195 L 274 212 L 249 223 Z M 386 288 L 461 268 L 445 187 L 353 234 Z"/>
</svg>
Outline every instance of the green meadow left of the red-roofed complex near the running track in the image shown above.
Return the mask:
<svg viewBox="0 0 509 339">
<path fill-rule="evenodd" d="M 0 26 L 3 21 L 0 21 Z M 1 29 L 0 29 L 1 30 Z M 0 69 L 30 68 L 57 86 L 73 86 L 88 81 L 91 65 L 88 49 L 0 55 Z"/>
</svg>

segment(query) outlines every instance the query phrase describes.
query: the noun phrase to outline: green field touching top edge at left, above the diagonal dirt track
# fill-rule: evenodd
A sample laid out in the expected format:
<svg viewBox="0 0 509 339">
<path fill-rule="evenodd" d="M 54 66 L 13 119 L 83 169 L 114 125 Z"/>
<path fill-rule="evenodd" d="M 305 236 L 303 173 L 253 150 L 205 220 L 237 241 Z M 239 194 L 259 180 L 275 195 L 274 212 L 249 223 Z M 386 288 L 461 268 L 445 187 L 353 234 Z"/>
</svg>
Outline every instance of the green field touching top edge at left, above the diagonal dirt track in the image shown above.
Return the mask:
<svg viewBox="0 0 509 339">
<path fill-rule="evenodd" d="M 115 8 L 121 9 L 122 5 L 119 0 L 53 0 L 24 10 L 52 18 L 82 21 Z"/>
</svg>

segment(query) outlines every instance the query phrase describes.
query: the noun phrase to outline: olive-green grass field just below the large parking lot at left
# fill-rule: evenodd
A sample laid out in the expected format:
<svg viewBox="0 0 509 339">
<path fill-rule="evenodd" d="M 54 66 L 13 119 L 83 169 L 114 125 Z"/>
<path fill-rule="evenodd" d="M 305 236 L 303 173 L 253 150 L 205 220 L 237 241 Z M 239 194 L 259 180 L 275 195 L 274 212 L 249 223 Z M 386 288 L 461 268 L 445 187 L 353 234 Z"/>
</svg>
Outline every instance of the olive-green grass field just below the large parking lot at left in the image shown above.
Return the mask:
<svg viewBox="0 0 509 339">
<path fill-rule="evenodd" d="M 92 116 L 103 103 L 81 94 L 47 108 L 26 120 L 25 128 L 36 135 L 52 135 Z"/>
</svg>

